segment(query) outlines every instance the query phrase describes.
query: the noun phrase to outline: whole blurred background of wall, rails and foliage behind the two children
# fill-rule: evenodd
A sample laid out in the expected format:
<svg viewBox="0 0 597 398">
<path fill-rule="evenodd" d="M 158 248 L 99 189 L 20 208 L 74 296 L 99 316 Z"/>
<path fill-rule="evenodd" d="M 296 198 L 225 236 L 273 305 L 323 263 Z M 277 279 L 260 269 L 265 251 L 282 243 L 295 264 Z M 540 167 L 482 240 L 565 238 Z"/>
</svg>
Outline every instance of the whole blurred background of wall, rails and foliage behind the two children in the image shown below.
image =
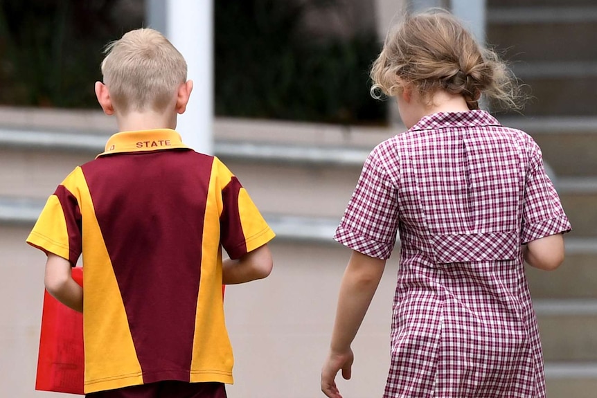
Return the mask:
<svg viewBox="0 0 597 398">
<path fill-rule="evenodd" d="M 597 396 L 592 0 L 0 0 L 0 396 L 69 396 L 34 390 L 45 256 L 24 241 L 57 184 L 116 132 L 93 93 L 105 44 L 141 26 L 176 35 L 168 12 L 197 8 L 211 21 L 196 26 L 208 52 L 188 30 L 173 42 L 213 66 L 207 78 L 189 75 L 191 102 L 207 101 L 208 118 L 185 125 L 200 111 L 191 107 L 181 134 L 207 137 L 206 152 L 238 175 L 278 234 L 272 275 L 226 289 L 229 397 L 321 396 L 350 255 L 331 236 L 368 152 L 404 131 L 393 102 L 369 96 L 368 67 L 393 21 L 429 6 L 461 17 L 532 96 L 522 113 L 494 111 L 542 147 L 573 226 L 560 269 L 527 270 L 548 397 Z M 345 397 L 382 395 L 397 269 L 396 251 L 355 341 L 353 380 L 339 382 Z"/>
</svg>

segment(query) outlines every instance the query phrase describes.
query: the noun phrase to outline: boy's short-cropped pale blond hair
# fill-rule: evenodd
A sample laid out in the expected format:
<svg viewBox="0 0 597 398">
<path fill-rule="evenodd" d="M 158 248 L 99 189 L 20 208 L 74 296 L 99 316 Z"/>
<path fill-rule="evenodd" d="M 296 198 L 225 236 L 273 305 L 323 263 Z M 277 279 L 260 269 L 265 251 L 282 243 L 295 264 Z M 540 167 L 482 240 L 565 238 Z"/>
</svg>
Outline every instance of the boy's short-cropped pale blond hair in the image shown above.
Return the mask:
<svg viewBox="0 0 597 398">
<path fill-rule="evenodd" d="M 186 61 L 157 30 L 125 33 L 105 48 L 102 74 L 112 103 L 121 112 L 164 111 L 181 83 Z"/>
</svg>

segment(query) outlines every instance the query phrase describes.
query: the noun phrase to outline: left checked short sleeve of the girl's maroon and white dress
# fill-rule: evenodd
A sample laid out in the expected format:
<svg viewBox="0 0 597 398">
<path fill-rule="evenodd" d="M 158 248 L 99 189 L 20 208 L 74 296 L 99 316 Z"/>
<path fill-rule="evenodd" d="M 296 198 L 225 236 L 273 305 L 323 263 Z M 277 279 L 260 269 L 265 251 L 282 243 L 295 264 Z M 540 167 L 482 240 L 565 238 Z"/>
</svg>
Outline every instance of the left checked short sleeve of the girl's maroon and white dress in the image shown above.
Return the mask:
<svg viewBox="0 0 597 398">
<path fill-rule="evenodd" d="M 380 146 L 369 154 L 334 239 L 370 257 L 386 260 L 398 229 L 398 190 L 382 165 Z"/>
</svg>

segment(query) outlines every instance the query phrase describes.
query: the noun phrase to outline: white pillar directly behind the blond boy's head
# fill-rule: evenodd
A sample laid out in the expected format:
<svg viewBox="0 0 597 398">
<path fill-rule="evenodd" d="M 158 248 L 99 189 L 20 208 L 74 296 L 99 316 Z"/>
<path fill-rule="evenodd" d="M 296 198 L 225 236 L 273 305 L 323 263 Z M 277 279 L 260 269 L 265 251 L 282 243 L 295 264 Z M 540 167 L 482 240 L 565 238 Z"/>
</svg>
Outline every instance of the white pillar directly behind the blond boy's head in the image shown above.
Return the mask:
<svg viewBox="0 0 597 398">
<path fill-rule="evenodd" d="M 213 0 L 149 0 L 148 25 L 184 56 L 193 93 L 177 132 L 197 152 L 213 154 Z"/>
</svg>

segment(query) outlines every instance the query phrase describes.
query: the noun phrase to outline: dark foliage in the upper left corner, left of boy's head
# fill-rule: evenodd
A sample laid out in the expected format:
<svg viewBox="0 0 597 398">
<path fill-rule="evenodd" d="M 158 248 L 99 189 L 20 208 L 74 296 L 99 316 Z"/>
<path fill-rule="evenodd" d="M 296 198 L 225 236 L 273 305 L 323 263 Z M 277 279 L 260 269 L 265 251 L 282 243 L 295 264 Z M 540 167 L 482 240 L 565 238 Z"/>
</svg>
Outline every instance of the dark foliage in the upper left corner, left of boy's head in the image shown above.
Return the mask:
<svg viewBox="0 0 597 398">
<path fill-rule="evenodd" d="M 96 107 L 103 47 L 123 32 L 116 0 L 3 0 L 0 3 L 0 103 Z"/>
</svg>

